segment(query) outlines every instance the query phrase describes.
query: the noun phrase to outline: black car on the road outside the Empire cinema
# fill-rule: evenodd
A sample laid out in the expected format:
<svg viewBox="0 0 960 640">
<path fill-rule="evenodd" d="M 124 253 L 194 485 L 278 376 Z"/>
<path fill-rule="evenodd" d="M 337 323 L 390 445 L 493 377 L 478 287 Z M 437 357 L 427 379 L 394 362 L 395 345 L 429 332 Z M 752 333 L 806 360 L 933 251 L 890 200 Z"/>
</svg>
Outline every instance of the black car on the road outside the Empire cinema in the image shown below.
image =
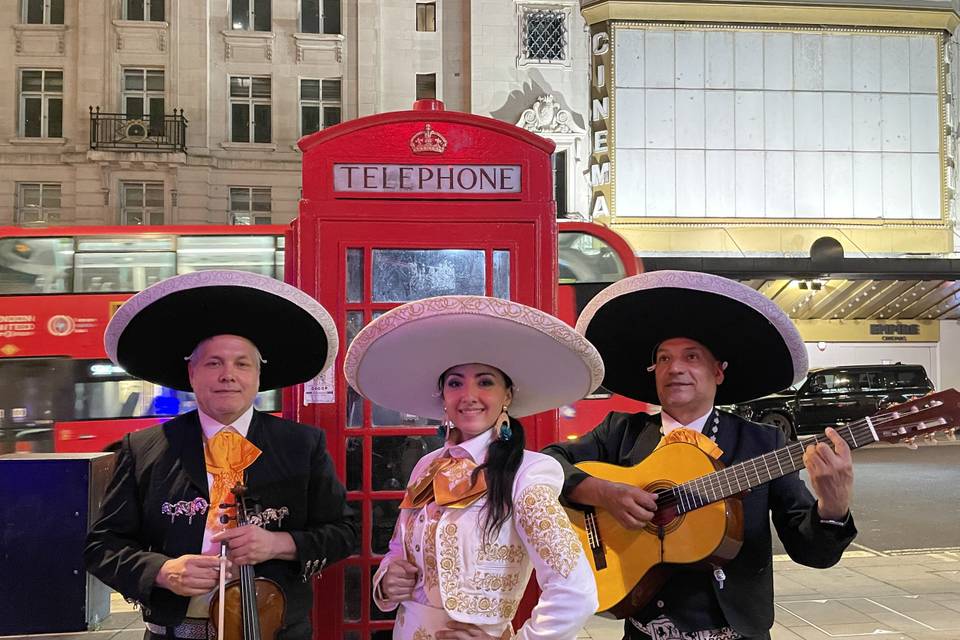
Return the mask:
<svg viewBox="0 0 960 640">
<path fill-rule="evenodd" d="M 827 427 L 873 415 L 890 405 L 933 391 L 927 372 L 916 364 L 876 364 L 811 369 L 800 388 L 736 405 L 754 422 L 783 429 L 787 439 L 822 433 Z"/>
</svg>

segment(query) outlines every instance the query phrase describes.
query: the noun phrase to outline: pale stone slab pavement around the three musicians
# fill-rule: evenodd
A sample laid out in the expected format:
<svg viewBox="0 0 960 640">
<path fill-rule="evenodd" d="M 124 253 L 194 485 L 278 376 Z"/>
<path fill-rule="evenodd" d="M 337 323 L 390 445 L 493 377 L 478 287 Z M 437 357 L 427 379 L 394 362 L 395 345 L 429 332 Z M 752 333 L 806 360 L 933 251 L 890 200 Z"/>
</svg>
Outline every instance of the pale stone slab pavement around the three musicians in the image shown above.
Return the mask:
<svg viewBox="0 0 960 640">
<path fill-rule="evenodd" d="M 958 523 L 960 526 L 960 523 Z M 854 543 L 831 569 L 774 557 L 772 640 L 960 640 L 960 547 L 877 551 Z M 620 640 L 623 622 L 595 616 L 579 640 Z M 143 623 L 114 594 L 99 629 L 4 640 L 140 640 Z"/>
</svg>

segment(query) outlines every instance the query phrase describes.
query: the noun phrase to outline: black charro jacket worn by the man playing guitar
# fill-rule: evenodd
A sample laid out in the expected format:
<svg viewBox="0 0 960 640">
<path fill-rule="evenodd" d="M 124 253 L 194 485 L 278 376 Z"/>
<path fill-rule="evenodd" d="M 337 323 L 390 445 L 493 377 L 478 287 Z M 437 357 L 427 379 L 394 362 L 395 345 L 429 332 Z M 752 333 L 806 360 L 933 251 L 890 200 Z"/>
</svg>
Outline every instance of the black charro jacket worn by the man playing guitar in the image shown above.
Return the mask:
<svg viewBox="0 0 960 640">
<path fill-rule="evenodd" d="M 786 446 L 783 432 L 768 425 L 748 422 L 719 412 L 717 445 L 725 466 Z M 712 424 L 712 418 L 707 421 Z M 579 440 L 553 444 L 543 451 L 560 461 L 566 476 L 563 496 L 569 495 L 587 474 L 577 462 L 598 460 L 621 466 L 638 464 L 660 440 L 660 416 L 646 413 L 610 413 Z M 736 558 L 723 566 L 723 588 L 708 572 L 680 571 L 637 618 L 646 621 L 660 613 L 685 631 L 715 624 L 710 609 L 719 610 L 719 621 L 748 638 L 768 638 L 773 626 L 773 552 L 770 519 L 790 557 L 809 567 L 836 564 L 857 530 L 851 517 L 838 527 L 820 522 L 816 499 L 807 490 L 799 472 L 751 490 L 743 498 L 743 546 Z M 712 593 L 711 593 L 712 592 Z M 657 603 L 662 603 L 658 607 Z M 627 624 L 630 624 L 629 622 Z"/>
</svg>

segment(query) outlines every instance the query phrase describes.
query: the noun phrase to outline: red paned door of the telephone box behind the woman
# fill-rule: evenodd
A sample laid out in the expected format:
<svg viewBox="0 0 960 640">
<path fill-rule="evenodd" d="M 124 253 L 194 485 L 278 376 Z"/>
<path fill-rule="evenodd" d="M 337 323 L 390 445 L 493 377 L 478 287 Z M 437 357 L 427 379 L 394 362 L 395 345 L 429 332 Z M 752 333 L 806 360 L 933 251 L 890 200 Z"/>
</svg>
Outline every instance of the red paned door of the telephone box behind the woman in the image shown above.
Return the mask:
<svg viewBox="0 0 960 640">
<path fill-rule="evenodd" d="M 318 584 L 318 602 L 343 603 L 342 628 L 332 632 L 325 620 L 318 629 L 322 638 L 389 638 L 394 614 L 373 604 L 371 577 L 387 552 L 414 464 L 443 440 L 438 422 L 372 405 L 349 388 L 342 379 L 343 355 L 360 329 L 404 302 L 472 294 L 533 304 L 536 283 L 521 274 L 534 270 L 536 229 L 525 223 L 325 222 L 318 231 L 318 278 L 341 283 L 322 288 L 331 293 L 320 302 L 341 327 L 343 346 L 337 402 L 306 407 L 316 413 L 304 417 L 338 425 L 327 431 L 328 446 L 345 471 L 348 500 L 362 523 L 357 555 L 325 572 Z M 529 421 L 531 435 L 536 421 Z"/>
</svg>

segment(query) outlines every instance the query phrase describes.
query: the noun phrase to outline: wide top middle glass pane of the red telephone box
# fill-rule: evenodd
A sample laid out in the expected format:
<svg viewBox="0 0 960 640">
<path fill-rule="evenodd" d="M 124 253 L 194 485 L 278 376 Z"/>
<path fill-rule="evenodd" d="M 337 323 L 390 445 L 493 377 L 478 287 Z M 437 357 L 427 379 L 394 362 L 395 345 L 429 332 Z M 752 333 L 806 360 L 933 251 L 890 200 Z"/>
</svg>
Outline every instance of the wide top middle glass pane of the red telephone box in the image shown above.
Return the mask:
<svg viewBox="0 0 960 640">
<path fill-rule="evenodd" d="M 373 301 L 482 296 L 486 291 L 484 267 L 483 251 L 478 249 L 374 249 Z"/>
</svg>

